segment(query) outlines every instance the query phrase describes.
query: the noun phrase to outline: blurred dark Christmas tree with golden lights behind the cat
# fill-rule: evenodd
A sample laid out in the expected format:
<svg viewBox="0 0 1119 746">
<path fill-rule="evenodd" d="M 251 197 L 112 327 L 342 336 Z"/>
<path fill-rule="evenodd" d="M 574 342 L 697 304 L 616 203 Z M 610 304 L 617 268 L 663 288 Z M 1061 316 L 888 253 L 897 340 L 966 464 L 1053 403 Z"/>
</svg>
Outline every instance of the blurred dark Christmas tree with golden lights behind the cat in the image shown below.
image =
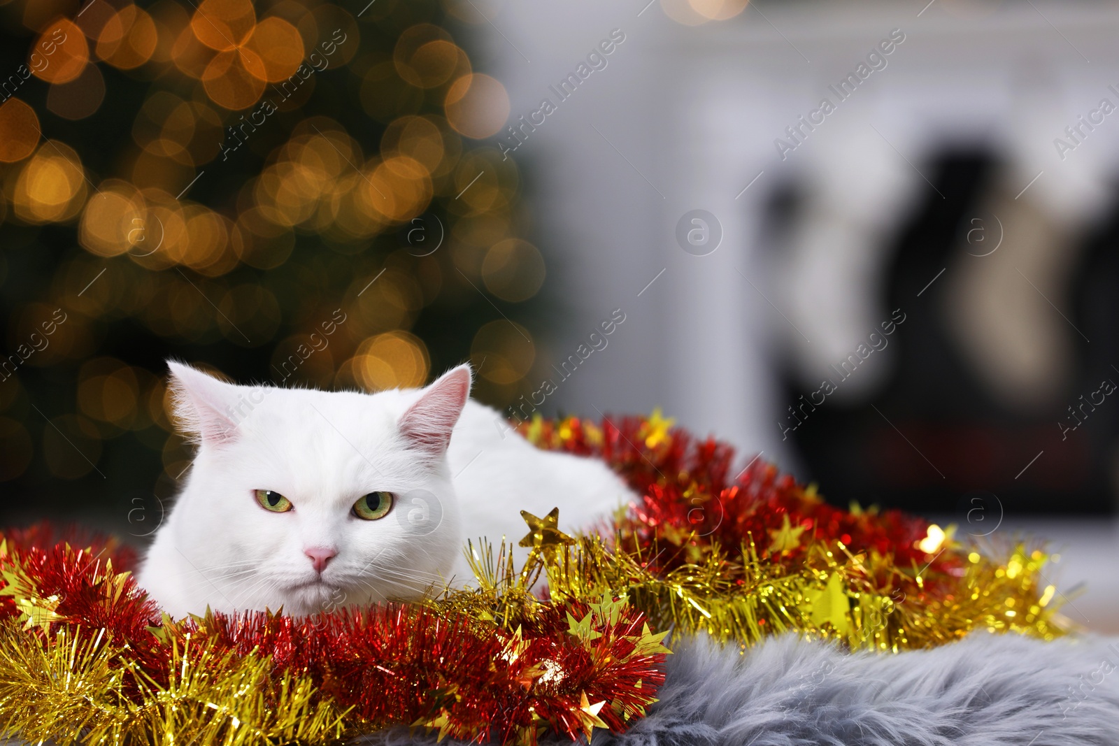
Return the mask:
<svg viewBox="0 0 1119 746">
<path fill-rule="evenodd" d="M 545 270 L 474 142 L 505 89 L 446 30 L 483 19 L 361 2 L 0 0 L 7 522 L 154 529 L 169 356 L 369 390 L 469 358 L 514 398 Z"/>
</svg>

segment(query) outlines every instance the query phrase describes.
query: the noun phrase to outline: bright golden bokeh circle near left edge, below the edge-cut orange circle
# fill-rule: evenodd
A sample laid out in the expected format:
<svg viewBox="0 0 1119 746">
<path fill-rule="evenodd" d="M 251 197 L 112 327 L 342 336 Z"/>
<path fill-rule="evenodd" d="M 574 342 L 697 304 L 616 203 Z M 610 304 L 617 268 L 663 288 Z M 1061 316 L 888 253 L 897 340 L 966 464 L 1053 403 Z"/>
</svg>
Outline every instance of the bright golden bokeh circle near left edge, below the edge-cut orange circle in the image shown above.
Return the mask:
<svg viewBox="0 0 1119 746">
<path fill-rule="evenodd" d="M 82 159 L 65 143 L 48 140 L 16 181 L 16 215 L 28 223 L 59 223 L 82 208 L 86 193 Z"/>
</svg>

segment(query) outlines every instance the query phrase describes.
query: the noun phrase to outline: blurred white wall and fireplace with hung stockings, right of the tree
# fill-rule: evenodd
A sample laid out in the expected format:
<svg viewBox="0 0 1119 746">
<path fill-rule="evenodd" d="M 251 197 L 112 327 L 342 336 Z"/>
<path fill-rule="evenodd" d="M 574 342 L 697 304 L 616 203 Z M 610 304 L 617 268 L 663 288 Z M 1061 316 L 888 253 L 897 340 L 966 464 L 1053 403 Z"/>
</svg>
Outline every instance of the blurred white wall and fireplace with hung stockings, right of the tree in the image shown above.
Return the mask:
<svg viewBox="0 0 1119 746">
<path fill-rule="evenodd" d="M 515 128 L 626 34 L 514 153 L 556 351 L 632 309 L 560 404 L 664 404 L 843 501 L 1110 513 L 1119 7 L 642 4 L 493 6 Z"/>
</svg>

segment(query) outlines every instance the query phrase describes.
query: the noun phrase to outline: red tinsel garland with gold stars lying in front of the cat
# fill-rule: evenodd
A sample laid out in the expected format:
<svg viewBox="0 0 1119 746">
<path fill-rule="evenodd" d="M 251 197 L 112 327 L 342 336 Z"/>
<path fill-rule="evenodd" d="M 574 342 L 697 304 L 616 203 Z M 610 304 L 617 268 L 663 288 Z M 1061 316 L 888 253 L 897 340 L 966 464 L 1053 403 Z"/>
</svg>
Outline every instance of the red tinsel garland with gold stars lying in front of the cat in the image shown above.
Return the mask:
<svg viewBox="0 0 1119 746">
<path fill-rule="evenodd" d="M 116 553 L 112 542 L 34 546 L 47 537 L 51 529 L 38 526 L 4 545 L 0 620 L 19 618 L 45 639 L 65 627 L 78 642 L 126 641 L 129 664 L 157 686 L 173 673 L 175 651 L 206 664 L 261 652 L 278 682 L 285 673 L 310 677 L 320 697 L 348 710 L 351 730 L 422 725 L 457 738 L 535 743 L 545 726 L 573 739 L 592 726 L 623 730 L 664 681 L 666 651 L 647 644 L 642 615 L 621 603 L 611 616 L 577 601 L 545 606 L 513 632 L 399 604 L 173 622 L 160 618 L 131 576 L 114 572 L 105 558 Z M 584 618 L 593 639 L 573 632 L 571 620 Z M 125 696 L 137 691 L 125 682 Z"/>
</svg>

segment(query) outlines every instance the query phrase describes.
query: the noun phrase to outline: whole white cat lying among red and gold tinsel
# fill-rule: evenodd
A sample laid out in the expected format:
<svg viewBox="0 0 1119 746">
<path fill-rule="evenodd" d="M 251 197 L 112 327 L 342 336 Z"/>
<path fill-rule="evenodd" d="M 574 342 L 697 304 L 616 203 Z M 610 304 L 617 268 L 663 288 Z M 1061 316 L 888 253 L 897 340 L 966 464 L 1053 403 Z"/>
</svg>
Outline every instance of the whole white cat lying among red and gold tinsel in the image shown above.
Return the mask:
<svg viewBox="0 0 1119 746">
<path fill-rule="evenodd" d="M 558 507 L 570 531 L 632 498 L 601 461 L 540 451 L 470 400 L 466 365 L 377 394 L 234 386 L 168 366 L 198 453 L 138 580 L 172 616 L 414 599 L 472 579 L 467 538 L 516 544 L 521 509 Z"/>
</svg>

